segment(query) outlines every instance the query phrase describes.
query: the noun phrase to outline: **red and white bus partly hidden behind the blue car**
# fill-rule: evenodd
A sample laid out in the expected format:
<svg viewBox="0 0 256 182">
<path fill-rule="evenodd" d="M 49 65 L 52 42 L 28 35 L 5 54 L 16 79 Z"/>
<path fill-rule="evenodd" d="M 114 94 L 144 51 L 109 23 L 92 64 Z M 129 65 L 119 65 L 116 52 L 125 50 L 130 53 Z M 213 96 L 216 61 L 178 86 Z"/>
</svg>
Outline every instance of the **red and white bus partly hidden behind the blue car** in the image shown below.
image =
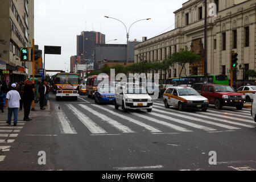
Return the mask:
<svg viewBox="0 0 256 182">
<path fill-rule="evenodd" d="M 93 75 L 89 76 L 86 80 L 86 93 L 87 96 L 90 98 L 94 98 L 94 92 L 96 92 L 98 85 L 105 79 L 108 79 L 109 82 L 109 76 L 98 76 Z"/>
</svg>

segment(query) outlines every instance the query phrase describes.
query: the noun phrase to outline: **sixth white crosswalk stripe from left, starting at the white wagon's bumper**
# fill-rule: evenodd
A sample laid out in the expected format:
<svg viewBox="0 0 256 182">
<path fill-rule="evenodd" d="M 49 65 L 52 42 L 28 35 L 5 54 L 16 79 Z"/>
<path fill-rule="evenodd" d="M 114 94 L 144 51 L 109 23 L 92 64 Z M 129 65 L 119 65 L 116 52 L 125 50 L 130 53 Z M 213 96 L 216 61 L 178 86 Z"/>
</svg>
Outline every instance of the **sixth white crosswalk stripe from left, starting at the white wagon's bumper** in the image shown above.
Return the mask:
<svg viewBox="0 0 256 182">
<path fill-rule="evenodd" d="M 158 111 L 159 113 L 170 114 L 167 111 L 162 111 L 162 110 L 159 110 L 159 109 L 154 109 L 154 110 Z M 196 129 L 201 129 L 201 130 L 204 130 L 204 131 L 216 131 L 216 129 L 213 129 L 211 127 L 207 127 L 207 126 L 203 126 L 203 125 L 197 125 L 195 123 L 183 121 L 181 119 L 168 117 L 167 115 L 162 115 L 162 114 L 158 114 L 158 113 L 148 113 L 148 114 L 155 115 L 156 117 L 163 118 L 163 119 L 170 119 L 170 121 L 174 121 L 174 122 L 177 122 L 177 123 L 180 123 L 180 124 L 183 124 L 183 125 L 191 126 L 191 127 L 196 128 Z"/>
</svg>

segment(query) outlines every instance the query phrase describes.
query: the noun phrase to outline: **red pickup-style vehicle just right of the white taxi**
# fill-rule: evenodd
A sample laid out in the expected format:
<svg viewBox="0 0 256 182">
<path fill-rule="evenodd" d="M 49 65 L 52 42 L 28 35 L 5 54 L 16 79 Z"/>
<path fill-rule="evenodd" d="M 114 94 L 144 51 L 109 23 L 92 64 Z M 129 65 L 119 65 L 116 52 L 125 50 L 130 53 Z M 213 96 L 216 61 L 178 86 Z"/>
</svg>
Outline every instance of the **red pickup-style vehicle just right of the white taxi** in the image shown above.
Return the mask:
<svg viewBox="0 0 256 182">
<path fill-rule="evenodd" d="M 203 85 L 201 95 L 208 98 L 209 104 L 214 104 L 218 110 L 222 109 L 222 106 L 235 106 L 242 110 L 246 102 L 244 94 L 234 92 L 228 85 Z"/>
</svg>

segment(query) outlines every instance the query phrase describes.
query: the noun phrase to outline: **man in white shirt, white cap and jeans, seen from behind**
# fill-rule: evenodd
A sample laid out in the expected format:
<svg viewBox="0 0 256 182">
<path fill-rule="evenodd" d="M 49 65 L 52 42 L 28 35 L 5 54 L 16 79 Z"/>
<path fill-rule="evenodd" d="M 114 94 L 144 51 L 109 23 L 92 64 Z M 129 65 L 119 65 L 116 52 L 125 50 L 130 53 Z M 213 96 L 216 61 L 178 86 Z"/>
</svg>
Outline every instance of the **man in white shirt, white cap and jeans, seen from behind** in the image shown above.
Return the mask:
<svg viewBox="0 0 256 182">
<path fill-rule="evenodd" d="M 19 92 L 16 91 L 16 84 L 11 84 L 11 90 L 6 96 L 6 105 L 8 106 L 8 120 L 6 123 L 11 125 L 11 118 L 14 114 L 14 125 L 17 126 L 18 123 L 18 111 L 19 111 Z"/>
</svg>

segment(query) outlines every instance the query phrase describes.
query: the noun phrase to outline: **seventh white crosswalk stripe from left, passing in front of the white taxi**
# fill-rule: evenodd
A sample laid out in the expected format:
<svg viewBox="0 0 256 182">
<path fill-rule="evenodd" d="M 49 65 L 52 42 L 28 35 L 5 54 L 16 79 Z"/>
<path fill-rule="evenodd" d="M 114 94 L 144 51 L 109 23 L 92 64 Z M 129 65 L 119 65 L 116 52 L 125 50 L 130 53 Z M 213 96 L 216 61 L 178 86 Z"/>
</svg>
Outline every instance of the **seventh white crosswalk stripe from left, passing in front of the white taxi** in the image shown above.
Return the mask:
<svg viewBox="0 0 256 182">
<path fill-rule="evenodd" d="M 162 107 L 159 107 L 159 106 L 155 106 L 159 109 L 162 109 Z M 159 111 L 159 110 L 156 110 L 156 111 Z M 225 129 L 229 129 L 229 130 L 238 130 L 240 128 L 238 127 L 234 127 L 234 126 L 229 126 L 229 125 L 224 125 L 224 124 L 221 124 L 221 123 L 216 123 L 216 122 L 212 122 L 212 121 L 205 121 L 203 119 L 199 119 L 199 118 L 193 118 L 193 117 L 189 117 L 188 115 L 184 115 L 183 114 L 177 114 L 177 113 L 168 113 L 168 114 L 171 114 L 171 115 L 176 115 L 177 117 L 181 117 L 181 118 L 185 118 L 185 119 L 191 119 L 192 121 L 196 121 L 196 122 L 202 122 L 202 123 L 207 123 L 209 125 L 214 125 L 214 126 L 218 126 L 218 127 L 223 127 Z"/>
</svg>

